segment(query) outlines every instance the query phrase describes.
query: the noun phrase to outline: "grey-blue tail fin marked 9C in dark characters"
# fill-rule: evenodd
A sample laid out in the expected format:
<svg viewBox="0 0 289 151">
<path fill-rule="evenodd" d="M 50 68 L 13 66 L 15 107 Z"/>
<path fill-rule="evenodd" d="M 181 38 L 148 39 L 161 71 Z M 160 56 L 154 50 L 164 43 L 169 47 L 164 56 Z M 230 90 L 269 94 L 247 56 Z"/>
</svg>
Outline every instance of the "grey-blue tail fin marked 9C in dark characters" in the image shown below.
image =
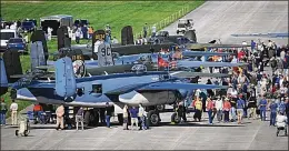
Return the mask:
<svg viewBox="0 0 289 151">
<path fill-rule="evenodd" d="M 111 46 L 106 42 L 98 47 L 98 66 L 113 66 Z"/>
</svg>

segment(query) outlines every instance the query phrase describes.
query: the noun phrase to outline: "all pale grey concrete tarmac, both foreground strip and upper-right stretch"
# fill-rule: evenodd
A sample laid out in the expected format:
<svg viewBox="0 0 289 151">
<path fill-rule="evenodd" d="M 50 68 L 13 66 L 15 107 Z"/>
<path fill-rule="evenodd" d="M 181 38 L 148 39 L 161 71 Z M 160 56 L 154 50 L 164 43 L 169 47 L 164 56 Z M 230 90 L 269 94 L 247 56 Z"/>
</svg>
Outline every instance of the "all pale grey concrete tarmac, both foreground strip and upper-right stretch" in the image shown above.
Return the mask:
<svg viewBox="0 0 289 151">
<path fill-rule="evenodd" d="M 288 2 L 207 1 L 185 18 L 195 20 L 199 42 L 249 42 L 252 38 L 231 34 L 288 32 Z M 176 22 L 163 30 L 175 34 Z M 288 43 L 288 38 L 272 40 Z M 211 125 L 207 113 L 201 122 L 192 122 L 192 114 L 188 123 L 171 124 L 171 113 L 161 113 L 161 125 L 146 131 L 127 131 L 121 125 L 57 131 L 53 124 L 33 124 L 28 137 L 18 138 L 17 128 L 7 125 L 1 127 L 1 150 L 288 150 L 288 137 L 282 131 L 276 137 L 269 121 L 245 119 L 243 124 Z"/>
</svg>

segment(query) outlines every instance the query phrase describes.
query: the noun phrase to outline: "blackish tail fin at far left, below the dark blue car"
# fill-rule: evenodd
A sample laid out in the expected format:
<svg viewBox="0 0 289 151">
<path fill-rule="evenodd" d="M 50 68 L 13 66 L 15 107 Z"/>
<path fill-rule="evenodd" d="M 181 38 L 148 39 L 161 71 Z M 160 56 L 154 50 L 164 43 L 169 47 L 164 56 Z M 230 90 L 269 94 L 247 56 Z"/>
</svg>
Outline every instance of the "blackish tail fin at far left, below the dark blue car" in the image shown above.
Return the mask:
<svg viewBox="0 0 289 151">
<path fill-rule="evenodd" d="M 8 82 L 9 83 L 16 82 L 20 78 L 11 78 L 11 76 L 23 73 L 19 53 L 17 51 L 6 51 L 3 53 L 3 61 L 4 61 Z"/>
</svg>

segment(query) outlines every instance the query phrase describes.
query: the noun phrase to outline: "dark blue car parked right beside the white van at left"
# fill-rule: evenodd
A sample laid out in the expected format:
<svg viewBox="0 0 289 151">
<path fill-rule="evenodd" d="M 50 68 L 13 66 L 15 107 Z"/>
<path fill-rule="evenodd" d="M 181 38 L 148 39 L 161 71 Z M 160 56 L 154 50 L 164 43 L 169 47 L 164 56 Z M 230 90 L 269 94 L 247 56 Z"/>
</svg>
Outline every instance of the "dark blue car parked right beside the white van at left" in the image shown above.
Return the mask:
<svg viewBox="0 0 289 151">
<path fill-rule="evenodd" d="M 7 42 L 7 50 L 28 53 L 27 43 L 22 38 L 10 38 Z"/>
</svg>

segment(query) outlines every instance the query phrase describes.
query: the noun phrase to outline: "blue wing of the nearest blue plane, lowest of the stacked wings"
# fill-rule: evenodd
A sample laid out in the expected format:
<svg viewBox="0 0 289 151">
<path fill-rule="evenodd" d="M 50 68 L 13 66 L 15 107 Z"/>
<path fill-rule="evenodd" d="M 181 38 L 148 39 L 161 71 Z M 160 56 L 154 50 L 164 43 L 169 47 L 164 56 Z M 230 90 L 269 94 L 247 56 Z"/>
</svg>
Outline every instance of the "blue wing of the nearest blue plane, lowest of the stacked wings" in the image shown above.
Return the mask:
<svg viewBox="0 0 289 151">
<path fill-rule="evenodd" d="M 227 85 L 215 84 L 193 84 L 193 83 L 176 83 L 176 82 L 157 82 L 148 85 L 143 85 L 138 90 L 196 90 L 196 89 L 228 89 Z"/>
</svg>

